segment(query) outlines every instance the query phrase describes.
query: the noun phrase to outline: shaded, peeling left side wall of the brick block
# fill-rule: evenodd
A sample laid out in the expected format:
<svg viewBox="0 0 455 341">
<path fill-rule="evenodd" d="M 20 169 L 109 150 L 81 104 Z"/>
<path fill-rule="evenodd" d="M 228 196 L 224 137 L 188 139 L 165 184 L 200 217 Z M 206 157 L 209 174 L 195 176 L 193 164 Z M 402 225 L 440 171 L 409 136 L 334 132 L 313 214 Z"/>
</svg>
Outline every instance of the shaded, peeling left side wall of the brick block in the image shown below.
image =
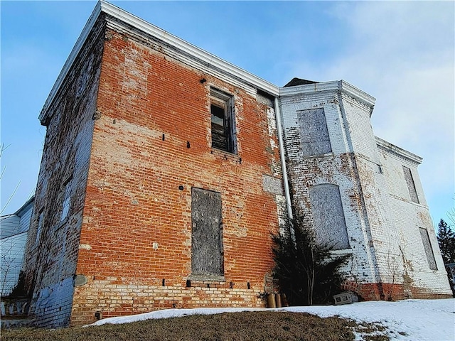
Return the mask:
<svg viewBox="0 0 455 341">
<path fill-rule="evenodd" d="M 33 292 L 30 311 L 38 325 L 70 322 L 103 30 L 97 26 L 90 33 L 58 96 L 43 109 L 47 132 L 25 259 L 27 289 Z M 70 210 L 63 217 L 67 187 Z"/>
</svg>

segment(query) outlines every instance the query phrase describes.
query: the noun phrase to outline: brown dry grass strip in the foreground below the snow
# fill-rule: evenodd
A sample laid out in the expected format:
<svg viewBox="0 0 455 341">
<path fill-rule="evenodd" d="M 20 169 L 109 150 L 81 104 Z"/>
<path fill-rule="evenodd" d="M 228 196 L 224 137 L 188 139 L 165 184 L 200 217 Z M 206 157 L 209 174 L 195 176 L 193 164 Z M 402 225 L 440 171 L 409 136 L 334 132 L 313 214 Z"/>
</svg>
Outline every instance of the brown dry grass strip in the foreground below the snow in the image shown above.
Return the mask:
<svg viewBox="0 0 455 341">
<path fill-rule="evenodd" d="M 2 330 L 1 340 L 342 341 L 354 340 L 353 331 L 365 335 L 368 334 L 366 330 L 375 334 L 379 329 L 375 324 L 358 325 L 352 320 L 338 317 L 319 318 L 307 313 L 264 311 L 192 315 L 89 328 Z M 370 340 L 389 338 L 373 337 Z"/>
</svg>

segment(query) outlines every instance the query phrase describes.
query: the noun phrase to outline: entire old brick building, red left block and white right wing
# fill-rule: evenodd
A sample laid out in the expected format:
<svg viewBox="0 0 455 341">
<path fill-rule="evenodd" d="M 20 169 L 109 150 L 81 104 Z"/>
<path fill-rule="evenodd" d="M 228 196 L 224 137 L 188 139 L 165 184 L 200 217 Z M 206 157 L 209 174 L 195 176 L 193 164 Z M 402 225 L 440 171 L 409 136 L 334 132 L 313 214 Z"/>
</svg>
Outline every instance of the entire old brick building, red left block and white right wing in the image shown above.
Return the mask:
<svg viewBox="0 0 455 341">
<path fill-rule="evenodd" d="M 100 1 L 39 117 L 36 324 L 262 307 L 292 210 L 352 254 L 363 298 L 449 296 L 421 160 L 375 138 L 373 104 L 343 81 L 277 87 Z"/>
</svg>

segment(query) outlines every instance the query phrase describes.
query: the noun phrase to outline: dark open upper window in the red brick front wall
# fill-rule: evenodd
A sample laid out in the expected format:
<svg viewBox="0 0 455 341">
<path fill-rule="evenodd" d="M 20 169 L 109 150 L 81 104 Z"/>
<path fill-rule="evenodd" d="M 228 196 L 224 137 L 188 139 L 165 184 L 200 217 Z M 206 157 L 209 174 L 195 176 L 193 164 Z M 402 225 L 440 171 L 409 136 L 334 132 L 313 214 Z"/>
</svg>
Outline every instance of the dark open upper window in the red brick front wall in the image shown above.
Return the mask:
<svg viewBox="0 0 455 341">
<path fill-rule="evenodd" d="M 237 153 L 234 97 L 220 90 L 210 90 L 212 147 Z"/>
</svg>

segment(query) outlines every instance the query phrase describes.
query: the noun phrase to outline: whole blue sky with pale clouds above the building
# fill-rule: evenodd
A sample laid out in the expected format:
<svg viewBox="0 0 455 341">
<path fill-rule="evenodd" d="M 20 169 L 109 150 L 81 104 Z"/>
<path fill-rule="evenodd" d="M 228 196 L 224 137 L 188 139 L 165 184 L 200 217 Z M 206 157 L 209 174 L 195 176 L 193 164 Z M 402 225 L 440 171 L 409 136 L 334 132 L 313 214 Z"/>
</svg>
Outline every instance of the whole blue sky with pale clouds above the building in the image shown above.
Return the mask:
<svg viewBox="0 0 455 341">
<path fill-rule="evenodd" d="M 0 1 L 2 215 L 34 193 L 38 121 L 96 1 Z M 376 98 L 375 134 L 424 158 L 433 220 L 454 210 L 453 1 L 112 1 L 275 85 L 346 80 Z M 18 185 L 9 204 L 11 193 Z"/>
</svg>

